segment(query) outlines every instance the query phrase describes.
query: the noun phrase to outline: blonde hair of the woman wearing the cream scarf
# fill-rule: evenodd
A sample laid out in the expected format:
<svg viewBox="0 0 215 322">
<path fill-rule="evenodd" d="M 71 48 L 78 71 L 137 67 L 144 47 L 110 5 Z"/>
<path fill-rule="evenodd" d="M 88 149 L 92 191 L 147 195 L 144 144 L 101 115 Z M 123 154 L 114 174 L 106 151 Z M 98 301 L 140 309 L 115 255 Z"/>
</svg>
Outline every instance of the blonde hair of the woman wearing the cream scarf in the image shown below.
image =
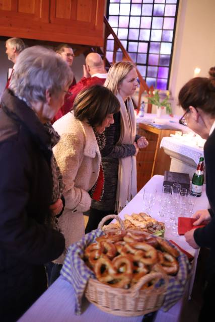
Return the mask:
<svg viewBox="0 0 215 322">
<path fill-rule="evenodd" d="M 136 66 L 131 61 L 116 62 L 110 67 L 104 86 L 114 95 L 118 94 L 119 84 L 133 68 Z"/>
</svg>

